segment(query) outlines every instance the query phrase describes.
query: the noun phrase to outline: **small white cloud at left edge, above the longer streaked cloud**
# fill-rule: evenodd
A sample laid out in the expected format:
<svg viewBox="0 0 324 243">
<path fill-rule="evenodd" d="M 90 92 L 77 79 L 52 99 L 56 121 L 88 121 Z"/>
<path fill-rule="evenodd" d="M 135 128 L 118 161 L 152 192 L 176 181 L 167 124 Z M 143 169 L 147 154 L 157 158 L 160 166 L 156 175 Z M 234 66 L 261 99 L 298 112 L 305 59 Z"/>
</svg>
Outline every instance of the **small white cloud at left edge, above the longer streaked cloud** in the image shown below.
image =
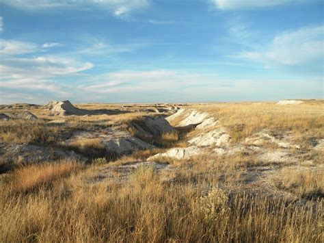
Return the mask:
<svg viewBox="0 0 324 243">
<path fill-rule="evenodd" d="M 26 53 L 33 53 L 37 50 L 37 44 L 31 42 L 0 39 L 0 54 L 2 55 L 21 55 Z"/>
</svg>

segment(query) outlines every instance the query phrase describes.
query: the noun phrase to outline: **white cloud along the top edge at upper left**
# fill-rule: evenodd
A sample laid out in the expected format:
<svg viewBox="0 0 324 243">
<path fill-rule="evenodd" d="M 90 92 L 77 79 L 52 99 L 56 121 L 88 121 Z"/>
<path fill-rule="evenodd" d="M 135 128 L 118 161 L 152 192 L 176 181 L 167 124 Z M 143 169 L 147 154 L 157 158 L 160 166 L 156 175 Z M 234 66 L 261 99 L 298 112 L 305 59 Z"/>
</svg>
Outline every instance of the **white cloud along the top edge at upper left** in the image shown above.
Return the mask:
<svg viewBox="0 0 324 243">
<path fill-rule="evenodd" d="M 46 8 L 87 9 L 89 6 L 103 8 L 118 18 L 127 18 L 134 11 L 147 8 L 149 0 L 0 0 L 0 2 L 24 10 L 42 10 Z"/>
</svg>

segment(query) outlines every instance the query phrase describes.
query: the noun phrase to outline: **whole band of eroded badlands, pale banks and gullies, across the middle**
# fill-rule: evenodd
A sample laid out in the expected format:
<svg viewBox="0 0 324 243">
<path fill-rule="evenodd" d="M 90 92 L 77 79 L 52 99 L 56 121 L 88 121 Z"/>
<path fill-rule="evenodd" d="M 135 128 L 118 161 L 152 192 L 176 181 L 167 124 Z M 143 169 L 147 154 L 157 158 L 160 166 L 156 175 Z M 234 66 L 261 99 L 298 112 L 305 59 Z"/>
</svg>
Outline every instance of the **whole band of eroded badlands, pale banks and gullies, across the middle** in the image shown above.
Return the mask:
<svg viewBox="0 0 324 243">
<path fill-rule="evenodd" d="M 239 109 L 243 110 L 245 107 L 260 109 L 263 105 L 277 112 L 282 109 L 282 105 L 295 109 L 304 107 L 305 104 L 312 105 L 314 102 L 317 101 L 282 100 L 277 104 L 238 105 L 241 105 Z M 321 106 L 322 103 L 319 102 Z M 12 140 L 3 137 L 2 140 L 9 141 L 0 144 L 0 169 L 10 170 L 13 162 L 42 163 L 51 159 L 73 159 L 87 164 L 98 157 L 109 161 L 137 151 L 150 151 L 148 157 L 141 162 L 145 164 L 154 162 L 151 164 L 154 166 L 157 166 L 157 163 L 170 164 L 172 160 L 186 160 L 206 155 L 208 157 L 244 155 L 253 157 L 254 164 L 275 164 L 277 167 L 280 163 L 315 163 L 312 159 L 301 159 L 301 154 L 306 153 L 305 145 L 301 139 L 294 138 L 292 131 L 280 131 L 278 134 L 273 127 L 260 124 L 260 127 L 252 127 L 253 132 L 249 132 L 248 136 L 237 139 L 237 134 L 241 136 L 241 133 L 249 131 L 248 122 L 241 118 L 238 124 L 228 125 L 226 120 L 229 119 L 227 116 L 231 112 L 222 117 L 217 112 L 209 111 L 211 107 L 220 110 L 221 107 L 228 109 L 230 105 L 160 103 L 84 104 L 75 107 L 70 101 L 51 101 L 44 106 L 2 105 L 0 118 L 6 127 L 3 127 L 4 133 L 10 131 L 10 126 L 13 129 L 11 133 L 17 132 L 14 129 L 17 129 L 16 124 L 19 123 L 26 123 L 26 129 L 31 126 L 31 132 L 33 129 L 41 131 L 26 135 L 24 133 L 29 131 L 23 131 L 17 135 L 21 138 Z M 237 109 L 235 105 L 232 107 Z M 264 109 L 261 110 L 264 112 Z M 237 133 L 234 132 L 236 130 Z M 324 140 L 320 134 L 318 138 L 310 138 L 309 141 L 308 153 L 317 154 L 316 151 L 323 150 Z M 172 166 L 163 166 L 163 169 L 165 168 Z"/>
</svg>

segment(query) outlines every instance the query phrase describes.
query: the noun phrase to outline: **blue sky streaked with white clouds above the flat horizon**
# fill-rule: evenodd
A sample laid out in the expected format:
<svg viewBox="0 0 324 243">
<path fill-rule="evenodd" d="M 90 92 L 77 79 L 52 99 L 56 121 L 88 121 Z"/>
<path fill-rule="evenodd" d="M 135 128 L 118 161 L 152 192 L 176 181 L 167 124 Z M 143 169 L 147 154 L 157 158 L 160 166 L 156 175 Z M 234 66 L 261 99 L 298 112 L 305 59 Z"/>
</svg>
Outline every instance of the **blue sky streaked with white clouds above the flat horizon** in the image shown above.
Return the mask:
<svg viewBox="0 0 324 243">
<path fill-rule="evenodd" d="M 324 98 L 323 0 L 0 0 L 0 103 Z"/>
</svg>

